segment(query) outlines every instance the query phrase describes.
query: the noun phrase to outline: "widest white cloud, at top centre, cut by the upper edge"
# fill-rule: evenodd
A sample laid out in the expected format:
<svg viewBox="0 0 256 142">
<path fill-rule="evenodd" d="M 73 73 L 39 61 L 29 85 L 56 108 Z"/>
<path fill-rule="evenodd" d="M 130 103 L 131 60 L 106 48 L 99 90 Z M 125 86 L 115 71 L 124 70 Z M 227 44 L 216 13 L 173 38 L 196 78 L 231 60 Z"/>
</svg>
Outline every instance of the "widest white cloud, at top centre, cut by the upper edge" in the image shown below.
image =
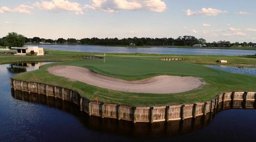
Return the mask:
<svg viewBox="0 0 256 142">
<path fill-rule="evenodd" d="M 163 12 L 166 4 L 162 0 L 92 0 L 90 5 L 86 4 L 83 8 L 108 13 L 116 13 L 120 10 Z"/>
</svg>

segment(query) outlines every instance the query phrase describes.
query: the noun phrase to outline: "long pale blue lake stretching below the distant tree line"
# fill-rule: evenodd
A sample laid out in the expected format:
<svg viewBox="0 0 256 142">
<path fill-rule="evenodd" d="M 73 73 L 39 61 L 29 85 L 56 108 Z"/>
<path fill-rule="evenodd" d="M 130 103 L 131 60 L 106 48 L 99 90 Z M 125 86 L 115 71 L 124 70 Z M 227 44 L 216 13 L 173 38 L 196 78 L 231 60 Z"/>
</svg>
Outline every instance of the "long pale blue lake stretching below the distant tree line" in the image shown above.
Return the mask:
<svg viewBox="0 0 256 142">
<path fill-rule="evenodd" d="M 29 45 L 32 46 L 32 45 Z M 36 45 L 38 46 L 38 45 Z M 227 50 L 227 49 L 187 49 L 187 48 L 134 48 L 134 47 L 111 47 L 111 46 L 85 46 L 85 45 L 39 45 L 39 47 L 79 51 L 79 52 L 103 52 L 103 53 L 144 53 L 144 54 L 174 54 L 174 55 L 255 55 L 256 50 Z"/>
</svg>

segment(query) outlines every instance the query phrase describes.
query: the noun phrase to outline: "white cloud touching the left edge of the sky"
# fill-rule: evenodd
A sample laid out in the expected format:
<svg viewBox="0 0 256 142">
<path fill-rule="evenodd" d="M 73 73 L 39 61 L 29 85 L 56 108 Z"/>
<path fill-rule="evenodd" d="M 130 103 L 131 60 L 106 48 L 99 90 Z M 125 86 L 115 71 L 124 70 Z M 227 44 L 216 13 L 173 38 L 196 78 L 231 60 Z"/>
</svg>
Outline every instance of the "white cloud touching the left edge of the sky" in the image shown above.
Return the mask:
<svg viewBox="0 0 256 142">
<path fill-rule="evenodd" d="M 10 12 L 18 12 L 18 13 L 25 13 L 25 14 L 30 14 L 30 9 L 32 9 L 32 6 L 24 5 L 21 4 L 13 9 L 8 8 L 6 6 L 2 6 L 0 8 L 0 13 L 10 13 Z"/>
</svg>

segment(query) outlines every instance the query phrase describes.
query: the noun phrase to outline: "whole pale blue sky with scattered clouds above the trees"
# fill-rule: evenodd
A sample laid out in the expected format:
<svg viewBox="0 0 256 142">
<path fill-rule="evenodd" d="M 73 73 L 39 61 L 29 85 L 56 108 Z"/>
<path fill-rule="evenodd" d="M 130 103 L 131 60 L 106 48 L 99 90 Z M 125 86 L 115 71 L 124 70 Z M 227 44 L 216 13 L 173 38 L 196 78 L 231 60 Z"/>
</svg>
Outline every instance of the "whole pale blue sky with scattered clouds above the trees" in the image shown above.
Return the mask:
<svg viewBox="0 0 256 142">
<path fill-rule="evenodd" d="M 0 37 L 256 42 L 255 0 L 1 0 Z"/>
</svg>

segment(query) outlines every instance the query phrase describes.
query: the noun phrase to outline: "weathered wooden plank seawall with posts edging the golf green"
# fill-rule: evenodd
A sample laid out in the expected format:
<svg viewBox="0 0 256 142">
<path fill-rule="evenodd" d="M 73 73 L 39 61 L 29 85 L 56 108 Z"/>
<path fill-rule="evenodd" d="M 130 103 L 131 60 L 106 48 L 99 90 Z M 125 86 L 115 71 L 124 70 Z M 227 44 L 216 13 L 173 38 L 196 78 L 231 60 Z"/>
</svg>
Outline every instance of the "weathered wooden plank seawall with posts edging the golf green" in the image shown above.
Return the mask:
<svg viewBox="0 0 256 142">
<path fill-rule="evenodd" d="M 245 108 L 253 108 L 256 92 L 226 92 L 220 93 L 214 99 L 192 104 L 163 105 L 163 106 L 131 106 L 125 104 L 96 102 L 86 99 L 76 91 L 59 86 L 23 82 L 11 78 L 11 87 L 14 90 L 37 93 L 46 96 L 58 97 L 70 101 L 78 106 L 80 110 L 102 118 L 113 118 L 135 122 L 161 122 L 172 120 L 184 120 L 205 116 L 214 109 L 239 108 L 242 104 Z M 232 102 L 232 103 L 231 103 Z"/>
</svg>

